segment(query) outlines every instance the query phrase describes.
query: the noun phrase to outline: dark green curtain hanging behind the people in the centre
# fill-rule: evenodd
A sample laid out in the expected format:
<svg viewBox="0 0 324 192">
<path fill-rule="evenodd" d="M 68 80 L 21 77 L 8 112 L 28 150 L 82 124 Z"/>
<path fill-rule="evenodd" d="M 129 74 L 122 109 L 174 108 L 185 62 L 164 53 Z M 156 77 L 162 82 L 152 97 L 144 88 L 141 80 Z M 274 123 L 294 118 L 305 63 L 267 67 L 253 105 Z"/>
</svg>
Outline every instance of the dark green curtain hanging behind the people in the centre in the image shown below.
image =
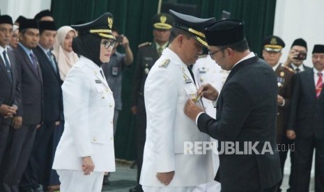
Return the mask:
<svg viewBox="0 0 324 192">
<path fill-rule="evenodd" d="M 164 0 L 163 2 L 168 2 Z M 275 19 L 275 0 L 172 0 L 172 3 L 187 3 L 200 9 L 201 17 L 221 19 L 222 10 L 231 13 L 231 19 L 245 21 L 245 33 L 250 49 L 261 53 L 263 38 L 272 34 Z M 75 22 L 90 22 L 110 12 L 114 25 L 130 40 L 134 56 L 137 45 L 152 41 L 151 17 L 157 13 L 158 0 L 53 0 L 52 12 L 57 26 Z M 134 58 L 136 61 L 136 58 Z M 134 117 L 130 112 L 130 93 L 134 65 L 123 72 L 123 109 L 119 113 L 115 135 L 116 158 L 135 159 Z"/>
</svg>

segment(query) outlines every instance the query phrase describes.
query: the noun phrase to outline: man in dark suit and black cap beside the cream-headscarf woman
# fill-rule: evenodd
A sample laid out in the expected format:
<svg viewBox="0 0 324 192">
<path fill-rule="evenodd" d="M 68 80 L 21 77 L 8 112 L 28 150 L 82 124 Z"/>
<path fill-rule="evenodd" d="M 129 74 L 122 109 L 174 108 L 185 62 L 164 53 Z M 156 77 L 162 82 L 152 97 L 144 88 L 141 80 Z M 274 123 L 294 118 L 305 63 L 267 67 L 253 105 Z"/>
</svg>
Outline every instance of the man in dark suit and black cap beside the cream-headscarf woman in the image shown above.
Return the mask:
<svg viewBox="0 0 324 192">
<path fill-rule="evenodd" d="M 34 54 L 38 58 L 43 74 L 43 125 L 37 130 L 31 159 L 20 182 L 23 189 L 35 189 L 49 185 L 52 170 L 51 137 L 61 120 L 62 81 L 56 60 L 51 53 L 56 37 L 54 22 L 39 22 L 40 40 Z"/>
</svg>

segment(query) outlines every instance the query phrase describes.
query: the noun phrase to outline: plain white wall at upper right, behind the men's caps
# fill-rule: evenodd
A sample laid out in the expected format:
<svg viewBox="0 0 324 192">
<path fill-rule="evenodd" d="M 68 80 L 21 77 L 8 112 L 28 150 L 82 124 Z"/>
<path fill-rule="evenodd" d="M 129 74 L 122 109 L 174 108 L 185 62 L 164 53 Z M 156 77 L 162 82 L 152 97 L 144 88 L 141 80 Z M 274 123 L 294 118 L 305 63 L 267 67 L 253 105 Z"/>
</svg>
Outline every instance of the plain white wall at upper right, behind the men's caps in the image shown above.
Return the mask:
<svg viewBox="0 0 324 192">
<path fill-rule="evenodd" d="M 281 62 L 286 61 L 293 40 L 306 40 L 308 52 L 304 64 L 312 67 L 311 51 L 314 45 L 324 45 L 324 1 L 277 0 L 273 35 L 286 43 Z"/>
</svg>

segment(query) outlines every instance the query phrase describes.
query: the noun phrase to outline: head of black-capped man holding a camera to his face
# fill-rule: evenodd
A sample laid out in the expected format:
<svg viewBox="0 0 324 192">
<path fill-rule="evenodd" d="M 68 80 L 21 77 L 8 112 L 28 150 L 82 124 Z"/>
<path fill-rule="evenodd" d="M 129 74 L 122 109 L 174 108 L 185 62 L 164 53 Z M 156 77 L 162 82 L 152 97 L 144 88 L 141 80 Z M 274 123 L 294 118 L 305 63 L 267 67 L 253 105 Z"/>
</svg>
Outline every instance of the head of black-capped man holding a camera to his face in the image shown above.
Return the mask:
<svg viewBox="0 0 324 192">
<path fill-rule="evenodd" d="M 304 65 L 304 60 L 307 57 L 307 42 L 302 38 L 296 39 L 291 45 L 288 57 L 284 66 L 287 66 L 294 70 L 295 73 L 303 72 L 304 70 L 310 70 L 311 67 Z"/>
</svg>

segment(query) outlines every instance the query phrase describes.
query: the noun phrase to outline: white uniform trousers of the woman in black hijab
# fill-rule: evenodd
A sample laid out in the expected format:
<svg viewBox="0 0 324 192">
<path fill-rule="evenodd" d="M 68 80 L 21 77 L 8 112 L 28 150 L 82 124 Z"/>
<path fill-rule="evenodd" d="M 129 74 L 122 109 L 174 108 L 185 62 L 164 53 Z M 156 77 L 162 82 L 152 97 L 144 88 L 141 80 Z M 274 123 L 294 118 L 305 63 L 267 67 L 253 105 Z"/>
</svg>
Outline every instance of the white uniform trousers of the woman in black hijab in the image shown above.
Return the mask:
<svg viewBox="0 0 324 192">
<path fill-rule="evenodd" d="M 81 170 L 56 170 L 61 182 L 61 192 L 101 192 L 103 172 L 84 175 Z"/>
</svg>

